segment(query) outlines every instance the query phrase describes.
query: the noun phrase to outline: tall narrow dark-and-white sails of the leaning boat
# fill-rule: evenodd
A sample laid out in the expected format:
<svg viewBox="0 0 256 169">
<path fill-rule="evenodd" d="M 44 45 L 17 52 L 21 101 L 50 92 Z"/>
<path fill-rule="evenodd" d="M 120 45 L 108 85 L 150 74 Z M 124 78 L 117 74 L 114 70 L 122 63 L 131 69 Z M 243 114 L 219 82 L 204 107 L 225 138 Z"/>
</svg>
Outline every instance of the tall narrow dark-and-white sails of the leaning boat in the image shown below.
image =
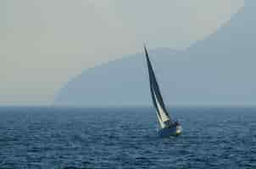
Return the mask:
<svg viewBox="0 0 256 169">
<path fill-rule="evenodd" d="M 167 128 L 170 126 L 172 122 L 164 106 L 163 97 L 160 93 L 159 85 L 156 80 L 155 74 L 153 73 L 152 64 L 150 63 L 146 46 L 144 46 L 144 50 L 147 58 L 147 68 L 148 68 L 148 74 L 149 74 L 150 91 L 152 95 L 153 105 L 156 108 L 157 116 L 158 116 L 161 128 Z"/>
</svg>

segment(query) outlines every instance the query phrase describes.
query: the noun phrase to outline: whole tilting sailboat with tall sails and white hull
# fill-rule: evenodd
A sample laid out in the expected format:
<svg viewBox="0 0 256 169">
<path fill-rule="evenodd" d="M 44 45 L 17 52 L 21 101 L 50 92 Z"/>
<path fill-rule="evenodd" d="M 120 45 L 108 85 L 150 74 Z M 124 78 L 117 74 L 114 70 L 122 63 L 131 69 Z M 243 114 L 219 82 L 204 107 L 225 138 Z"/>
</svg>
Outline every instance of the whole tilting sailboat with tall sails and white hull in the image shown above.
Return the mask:
<svg viewBox="0 0 256 169">
<path fill-rule="evenodd" d="M 146 46 L 144 46 L 144 51 L 147 59 L 150 92 L 153 100 L 153 106 L 156 109 L 157 117 L 160 124 L 160 129 L 158 130 L 159 136 L 169 137 L 180 135 L 182 131 L 181 124 L 177 121 L 174 122 L 165 108 L 164 100 L 160 93 L 159 84 L 153 72 L 153 67 L 149 60 Z"/>
</svg>

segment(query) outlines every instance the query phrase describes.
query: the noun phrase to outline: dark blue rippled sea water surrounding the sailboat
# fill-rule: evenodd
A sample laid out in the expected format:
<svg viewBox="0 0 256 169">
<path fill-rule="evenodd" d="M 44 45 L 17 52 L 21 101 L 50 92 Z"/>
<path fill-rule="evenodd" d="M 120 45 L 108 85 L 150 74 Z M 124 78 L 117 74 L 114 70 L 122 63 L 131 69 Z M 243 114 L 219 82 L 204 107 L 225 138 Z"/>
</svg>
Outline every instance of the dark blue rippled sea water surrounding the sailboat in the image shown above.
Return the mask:
<svg viewBox="0 0 256 169">
<path fill-rule="evenodd" d="M 256 168 L 256 109 L 172 108 L 160 139 L 149 108 L 0 109 L 0 168 Z"/>
</svg>

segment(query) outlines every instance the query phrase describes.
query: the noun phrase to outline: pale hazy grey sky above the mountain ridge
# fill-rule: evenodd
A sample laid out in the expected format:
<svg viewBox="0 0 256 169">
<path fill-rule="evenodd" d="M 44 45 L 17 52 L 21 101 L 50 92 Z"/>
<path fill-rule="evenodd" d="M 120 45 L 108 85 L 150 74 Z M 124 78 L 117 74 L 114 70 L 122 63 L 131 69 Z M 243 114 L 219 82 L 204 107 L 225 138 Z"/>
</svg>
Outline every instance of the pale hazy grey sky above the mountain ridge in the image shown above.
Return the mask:
<svg viewBox="0 0 256 169">
<path fill-rule="evenodd" d="M 182 49 L 243 0 L 2 0 L 0 105 L 43 105 L 82 70 L 150 48 Z"/>
</svg>

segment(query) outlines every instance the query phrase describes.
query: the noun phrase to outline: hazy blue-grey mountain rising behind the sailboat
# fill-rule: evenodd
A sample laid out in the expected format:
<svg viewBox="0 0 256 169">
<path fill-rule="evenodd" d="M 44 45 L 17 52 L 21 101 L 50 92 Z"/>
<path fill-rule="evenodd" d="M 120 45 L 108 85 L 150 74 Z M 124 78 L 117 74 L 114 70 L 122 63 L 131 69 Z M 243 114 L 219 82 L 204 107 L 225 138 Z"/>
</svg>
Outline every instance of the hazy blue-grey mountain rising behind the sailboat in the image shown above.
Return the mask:
<svg viewBox="0 0 256 169">
<path fill-rule="evenodd" d="M 256 105 L 255 1 L 185 51 L 149 50 L 168 105 Z M 56 94 L 65 106 L 151 104 L 144 53 L 90 68 Z"/>
</svg>

